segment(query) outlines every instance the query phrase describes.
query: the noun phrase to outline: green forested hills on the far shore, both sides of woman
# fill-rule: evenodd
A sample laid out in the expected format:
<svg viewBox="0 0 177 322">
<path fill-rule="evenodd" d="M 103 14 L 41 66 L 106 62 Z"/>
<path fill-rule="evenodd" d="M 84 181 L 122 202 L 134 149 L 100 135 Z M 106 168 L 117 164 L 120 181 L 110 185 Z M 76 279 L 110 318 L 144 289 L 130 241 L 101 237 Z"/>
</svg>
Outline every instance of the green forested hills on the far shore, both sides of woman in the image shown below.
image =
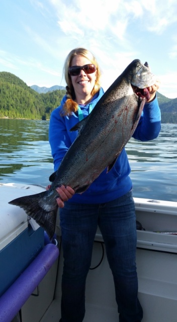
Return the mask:
<svg viewBox="0 0 177 322">
<path fill-rule="evenodd" d="M 39 91 L 37 86 L 36 89 Z M 65 90 L 39 94 L 16 75 L 0 72 L 0 118 L 49 119 L 64 95 Z M 160 93 L 157 97 L 162 123 L 177 124 L 177 98 L 169 99 Z"/>
</svg>

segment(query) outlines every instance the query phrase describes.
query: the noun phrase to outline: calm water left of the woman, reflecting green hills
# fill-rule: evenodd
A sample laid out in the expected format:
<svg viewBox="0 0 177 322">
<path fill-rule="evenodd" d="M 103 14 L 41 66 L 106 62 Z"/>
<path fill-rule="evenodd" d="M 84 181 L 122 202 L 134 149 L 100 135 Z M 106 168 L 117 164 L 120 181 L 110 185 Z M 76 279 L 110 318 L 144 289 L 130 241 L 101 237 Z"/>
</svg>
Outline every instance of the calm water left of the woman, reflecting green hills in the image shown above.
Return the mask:
<svg viewBox="0 0 177 322">
<path fill-rule="evenodd" d="M 0 179 L 48 182 L 53 172 L 48 126 L 48 121 L 0 119 Z"/>
</svg>

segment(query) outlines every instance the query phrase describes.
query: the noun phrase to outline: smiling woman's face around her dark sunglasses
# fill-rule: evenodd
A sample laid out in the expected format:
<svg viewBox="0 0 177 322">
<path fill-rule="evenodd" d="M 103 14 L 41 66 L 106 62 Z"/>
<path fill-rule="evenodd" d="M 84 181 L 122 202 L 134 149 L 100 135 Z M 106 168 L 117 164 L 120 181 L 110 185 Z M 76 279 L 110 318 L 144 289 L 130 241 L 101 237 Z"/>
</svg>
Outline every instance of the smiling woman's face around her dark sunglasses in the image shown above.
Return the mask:
<svg viewBox="0 0 177 322">
<path fill-rule="evenodd" d="M 87 58 L 76 55 L 72 59 L 71 66 L 83 66 L 86 64 L 92 64 Z M 71 82 L 74 88 L 76 102 L 83 104 L 83 101 L 87 102 L 91 99 L 91 92 L 94 88 L 95 81 L 97 78 L 97 70 L 92 74 L 86 74 L 83 69 L 76 76 L 70 76 Z"/>
</svg>

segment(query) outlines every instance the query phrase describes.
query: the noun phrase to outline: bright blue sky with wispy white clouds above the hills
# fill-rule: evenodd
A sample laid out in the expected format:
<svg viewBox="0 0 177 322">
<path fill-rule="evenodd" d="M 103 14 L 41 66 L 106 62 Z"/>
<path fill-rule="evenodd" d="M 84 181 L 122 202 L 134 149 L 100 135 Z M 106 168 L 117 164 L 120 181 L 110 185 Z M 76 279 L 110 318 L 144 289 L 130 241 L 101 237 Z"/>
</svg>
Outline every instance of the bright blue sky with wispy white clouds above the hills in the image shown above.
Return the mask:
<svg viewBox="0 0 177 322">
<path fill-rule="evenodd" d="M 159 92 L 177 98 L 176 0 L 1 0 L 0 71 L 28 86 L 65 86 L 66 55 L 97 57 L 105 90 L 133 60 L 148 61 Z"/>
</svg>

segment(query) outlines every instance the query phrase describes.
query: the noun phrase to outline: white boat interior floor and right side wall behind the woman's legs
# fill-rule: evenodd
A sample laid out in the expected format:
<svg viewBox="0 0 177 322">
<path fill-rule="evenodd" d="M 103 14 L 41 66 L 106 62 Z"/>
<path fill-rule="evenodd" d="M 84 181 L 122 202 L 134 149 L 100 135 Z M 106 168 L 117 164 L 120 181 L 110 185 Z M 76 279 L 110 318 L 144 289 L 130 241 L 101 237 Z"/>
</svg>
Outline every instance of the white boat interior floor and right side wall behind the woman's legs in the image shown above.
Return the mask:
<svg viewBox="0 0 177 322">
<path fill-rule="evenodd" d="M 134 201 L 137 220 L 145 228 L 137 231 L 136 257 L 139 299 L 144 311 L 142 322 L 176 322 L 177 235 L 164 232 L 175 232 L 177 228 L 177 203 L 141 198 L 134 198 Z M 59 221 L 56 234 L 60 247 L 59 260 L 39 284 L 38 296 L 30 296 L 23 305 L 22 322 L 59 321 L 63 267 Z M 97 266 L 101 260 L 103 254 L 101 243 L 104 247 L 98 229 L 92 267 Z M 33 293 L 35 292 L 37 290 Z M 118 321 L 113 277 L 106 252 L 99 267 L 88 273 L 85 307 L 84 322 Z"/>
</svg>

